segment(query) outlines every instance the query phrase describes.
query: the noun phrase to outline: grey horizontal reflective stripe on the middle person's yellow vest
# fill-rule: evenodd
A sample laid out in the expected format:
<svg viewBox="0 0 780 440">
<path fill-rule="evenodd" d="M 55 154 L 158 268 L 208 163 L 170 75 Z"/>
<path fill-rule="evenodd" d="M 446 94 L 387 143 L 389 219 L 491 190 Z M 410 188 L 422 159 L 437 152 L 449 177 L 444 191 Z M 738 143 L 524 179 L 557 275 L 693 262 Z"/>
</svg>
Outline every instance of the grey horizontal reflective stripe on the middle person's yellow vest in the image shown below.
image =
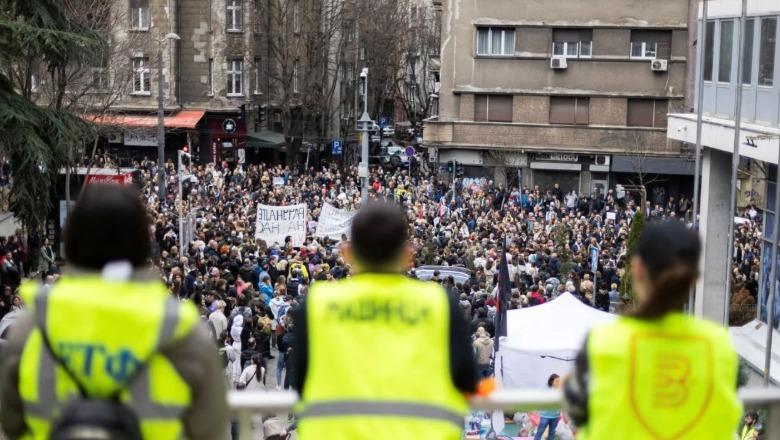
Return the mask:
<svg viewBox="0 0 780 440">
<path fill-rule="evenodd" d="M 440 406 L 410 402 L 320 401 L 306 405 L 304 412 L 298 415 L 301 420 L 340 416 L 415 417 L 450 422 L 458 429 L 463 426 L 462 414 Z"/>
</svg>

